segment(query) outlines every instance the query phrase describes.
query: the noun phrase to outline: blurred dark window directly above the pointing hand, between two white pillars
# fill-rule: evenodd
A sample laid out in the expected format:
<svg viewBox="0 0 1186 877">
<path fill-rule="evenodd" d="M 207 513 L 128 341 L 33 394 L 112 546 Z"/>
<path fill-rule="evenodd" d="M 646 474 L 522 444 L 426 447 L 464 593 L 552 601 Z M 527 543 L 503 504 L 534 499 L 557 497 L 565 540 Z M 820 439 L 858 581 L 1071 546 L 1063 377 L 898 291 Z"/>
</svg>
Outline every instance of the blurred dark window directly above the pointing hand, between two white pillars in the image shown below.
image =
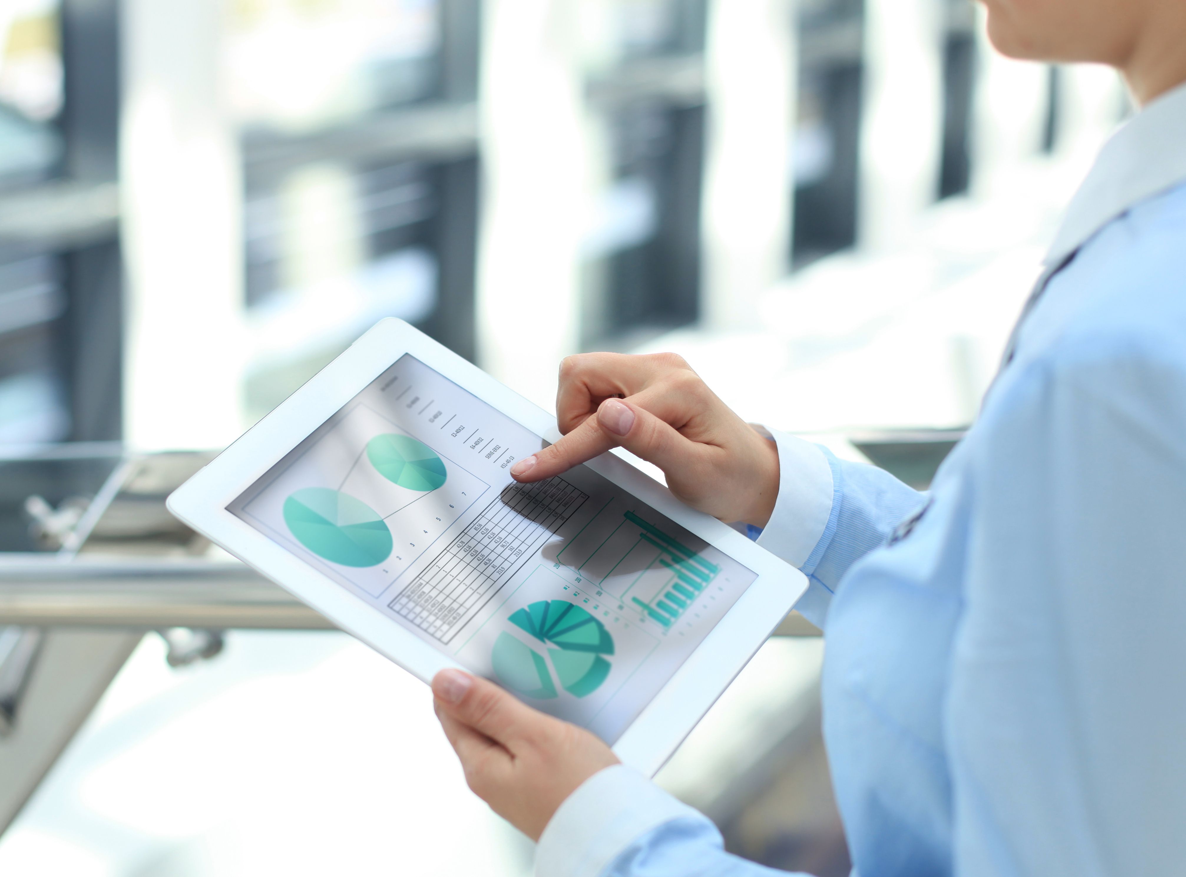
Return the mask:
<svg viewBox="0 0 1186 877">
<path fill-rule="evenodd" d="M 586 347 L 621 347 L 699 316 L 707 4 L 600 12 L 586 66 L 607 181 L 582 247 L 581 331 Z"/>
</svg>

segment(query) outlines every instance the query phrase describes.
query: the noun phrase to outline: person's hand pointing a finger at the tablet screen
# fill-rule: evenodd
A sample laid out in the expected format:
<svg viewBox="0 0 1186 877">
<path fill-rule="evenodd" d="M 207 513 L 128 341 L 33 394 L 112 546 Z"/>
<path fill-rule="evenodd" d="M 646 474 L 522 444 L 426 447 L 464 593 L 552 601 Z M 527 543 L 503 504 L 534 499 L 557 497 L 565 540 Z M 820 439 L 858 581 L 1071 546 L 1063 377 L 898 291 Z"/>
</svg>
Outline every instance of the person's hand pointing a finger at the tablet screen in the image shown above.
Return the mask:
<svg viewBox="0 0 1186 877">
<path fill-rule="evenodd" d="M 681 500 L 723 521 L 765 526 L 778 450 L 674 353 L 584 353 L 560 365 L 555 444 L 511 468 L 542 481 L 621 446 L 658 466 Z"/>
</svg>

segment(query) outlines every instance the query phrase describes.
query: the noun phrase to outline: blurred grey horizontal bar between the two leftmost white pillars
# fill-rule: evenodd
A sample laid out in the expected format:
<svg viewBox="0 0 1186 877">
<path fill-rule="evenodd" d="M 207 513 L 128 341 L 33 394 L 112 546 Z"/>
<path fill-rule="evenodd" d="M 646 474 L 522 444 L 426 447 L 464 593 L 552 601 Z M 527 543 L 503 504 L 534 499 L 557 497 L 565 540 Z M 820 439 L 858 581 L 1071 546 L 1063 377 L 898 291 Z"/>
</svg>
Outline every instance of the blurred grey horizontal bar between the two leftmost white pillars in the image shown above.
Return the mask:
<svg viewBox="0 0 1186 877">
<path fill-rule="evenodd" d="M 318 161 L 449 161 L 478 152 L 477 103 L 425 103 L 308 134 L 251 130 L 243 135 L 250 177 L 282 175 Z"/>
</svg>

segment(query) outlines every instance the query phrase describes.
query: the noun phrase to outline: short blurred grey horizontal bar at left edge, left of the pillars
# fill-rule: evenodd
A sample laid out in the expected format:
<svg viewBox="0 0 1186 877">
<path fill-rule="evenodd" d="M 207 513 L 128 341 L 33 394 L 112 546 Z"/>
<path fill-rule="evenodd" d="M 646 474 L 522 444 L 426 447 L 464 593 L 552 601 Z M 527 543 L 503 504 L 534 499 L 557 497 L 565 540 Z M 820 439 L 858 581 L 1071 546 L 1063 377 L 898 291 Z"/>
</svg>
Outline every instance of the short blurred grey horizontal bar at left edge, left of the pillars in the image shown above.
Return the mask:
<svg viewBox="0 0 1186 877">
<path fill-rule="evenodd" d="M 0 248 L 68 250 L 119 232 L 115 183 L 46 183 L 0 194 Z"/>
</svg>

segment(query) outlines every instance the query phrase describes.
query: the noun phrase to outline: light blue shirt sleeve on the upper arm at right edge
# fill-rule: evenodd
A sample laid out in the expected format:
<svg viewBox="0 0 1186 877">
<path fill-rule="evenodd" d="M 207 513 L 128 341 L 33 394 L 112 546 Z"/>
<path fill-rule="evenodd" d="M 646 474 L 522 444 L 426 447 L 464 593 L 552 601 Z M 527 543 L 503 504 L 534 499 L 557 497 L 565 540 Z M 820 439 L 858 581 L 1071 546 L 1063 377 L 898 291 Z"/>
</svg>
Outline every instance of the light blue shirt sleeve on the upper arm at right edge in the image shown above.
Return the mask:
<svg viewBox="0 0 1186 877">
<path fill-rule="evenodd" d="M 1186 862 L 1186 356 L 1101 334 L 989 397 L 970 448 L 961 877 Z"/>
</svg>

